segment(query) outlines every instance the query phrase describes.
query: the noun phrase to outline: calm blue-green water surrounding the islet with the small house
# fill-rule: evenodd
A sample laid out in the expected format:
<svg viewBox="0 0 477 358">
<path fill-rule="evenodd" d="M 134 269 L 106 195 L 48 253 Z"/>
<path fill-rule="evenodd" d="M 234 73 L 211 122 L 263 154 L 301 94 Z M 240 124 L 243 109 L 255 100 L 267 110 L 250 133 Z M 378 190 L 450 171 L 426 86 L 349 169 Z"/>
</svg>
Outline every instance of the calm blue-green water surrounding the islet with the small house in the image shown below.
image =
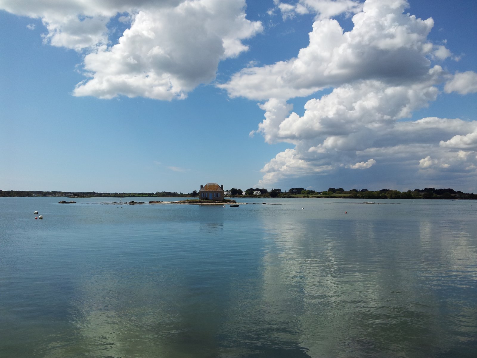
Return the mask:
<svg viewBox="0 0 477 358">
<path fill-rule="evenodd" d="M 2 358 L 477 350 L 477 201 L 63 199 L 0 198 Z"/>
</svg>

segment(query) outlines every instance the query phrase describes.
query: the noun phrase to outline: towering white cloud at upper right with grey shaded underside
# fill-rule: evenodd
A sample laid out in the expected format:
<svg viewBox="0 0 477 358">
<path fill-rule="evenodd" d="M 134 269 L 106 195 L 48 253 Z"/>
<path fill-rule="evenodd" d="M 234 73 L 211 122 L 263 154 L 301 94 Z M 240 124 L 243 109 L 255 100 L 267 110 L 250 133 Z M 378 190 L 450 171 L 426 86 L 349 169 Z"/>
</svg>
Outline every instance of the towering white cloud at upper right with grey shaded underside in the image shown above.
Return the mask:
<svg viewBox="0 0 477 358">
<path fill-rule="evenodd" d="M 243 69 L 220 85 L 231 96 L 288 99 L 361 79 L 416 81 L 428 74 L 435 47 L 427 41 L 434 21 L 404 14 L 404 0 L 367 0 L 352 31 L 339 22 L 313 23 L 310 44 L 296 58 Z M 438 48 L 442 52 L 441 47 Z"/>
</svg>

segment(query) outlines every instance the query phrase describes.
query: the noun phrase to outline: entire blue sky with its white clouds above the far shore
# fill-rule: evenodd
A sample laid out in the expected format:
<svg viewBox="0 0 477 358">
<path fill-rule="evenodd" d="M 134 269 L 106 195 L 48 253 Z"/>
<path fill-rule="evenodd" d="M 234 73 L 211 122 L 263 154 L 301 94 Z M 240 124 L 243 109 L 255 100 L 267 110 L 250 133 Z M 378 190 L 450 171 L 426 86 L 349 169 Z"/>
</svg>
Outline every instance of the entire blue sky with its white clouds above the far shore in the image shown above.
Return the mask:
<svg viewBox="0 0 477 358">
<path fill-rule="evenodd" d="M 0 0 L 0 189 L 477 192 L 476 14 Z"/>
</svg>

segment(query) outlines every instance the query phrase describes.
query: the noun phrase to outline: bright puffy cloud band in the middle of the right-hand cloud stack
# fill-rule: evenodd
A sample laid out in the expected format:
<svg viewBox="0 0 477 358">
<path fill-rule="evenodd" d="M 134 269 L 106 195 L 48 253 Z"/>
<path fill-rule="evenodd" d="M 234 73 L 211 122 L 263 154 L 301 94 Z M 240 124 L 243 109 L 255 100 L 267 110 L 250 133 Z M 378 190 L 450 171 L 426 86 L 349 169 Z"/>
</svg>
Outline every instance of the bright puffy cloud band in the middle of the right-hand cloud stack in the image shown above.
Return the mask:
<svg viewBox="0 0 477 358">
<path fill-rule="evenodd" d="M 438 94 L 434 84 L 442 70 L 440 67 L 429 71 L 427 81 L 416 84 L 391 86 L 381 81 L 366 80 L 345 84 L 335 88 L 331 94 L 321 99 L 311 99 L 305 105 L 305 114 L 292 113 L 281 120 L 270 112 L 276 107 L 285 108 L 285 101 L 272 99 L 262 106 L 267 109 L 266 119 L 259 125 L 259 132 L 270 143 L 286 141 L 296 143 L 301 139 L 339 138 L 342 135 L 357 133 L 363 128 L 382 128 L 394 121 L 410 116 L 413 110 L 421 108 L 428 101 L 436 99 Z M 275 106 L 272 107 L 272 104 Z M 270 111 L 270 112 L 269 112 Z M 282 114 L 283 109 L 279 112 Z M 276 138 L 272 138 L 275 134 Z M 362 143 L 361 138 L 357 138 Z M 333 141 L 338 145 L 338 140 Z M 343 146 L 352 145 L 349 138 Z"/>
</svg>

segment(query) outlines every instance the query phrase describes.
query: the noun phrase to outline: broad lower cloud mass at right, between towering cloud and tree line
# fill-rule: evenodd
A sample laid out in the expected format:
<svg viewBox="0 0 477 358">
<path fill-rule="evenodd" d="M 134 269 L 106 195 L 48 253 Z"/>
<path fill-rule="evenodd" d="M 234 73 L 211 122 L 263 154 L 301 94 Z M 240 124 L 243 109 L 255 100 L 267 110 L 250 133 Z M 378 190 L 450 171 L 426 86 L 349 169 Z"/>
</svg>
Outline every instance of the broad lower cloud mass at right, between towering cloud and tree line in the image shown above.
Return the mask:
<svg viewBox="0 0 477 358">
<path fill-rule="evenodd" d="M 442 70 L 430 70 L 428 81 L 391 86 L 366 80 L 335 88 L 329 95 L 311 99 L 303 116 L 291 112 L 285 100 L 271 99 L 259 125 L 269 143 L 294 145 L 264 166 L 260 185 L 284 179 L 370 169 L 386 176 L 396 168 L 394 184 L 436 171 L 476 175 L 477 121 L 428 117 L 405 120 L 438 95 L 435 84 Z M 470 154 L 470 155 L 469 155 Z"/>
</svg>

